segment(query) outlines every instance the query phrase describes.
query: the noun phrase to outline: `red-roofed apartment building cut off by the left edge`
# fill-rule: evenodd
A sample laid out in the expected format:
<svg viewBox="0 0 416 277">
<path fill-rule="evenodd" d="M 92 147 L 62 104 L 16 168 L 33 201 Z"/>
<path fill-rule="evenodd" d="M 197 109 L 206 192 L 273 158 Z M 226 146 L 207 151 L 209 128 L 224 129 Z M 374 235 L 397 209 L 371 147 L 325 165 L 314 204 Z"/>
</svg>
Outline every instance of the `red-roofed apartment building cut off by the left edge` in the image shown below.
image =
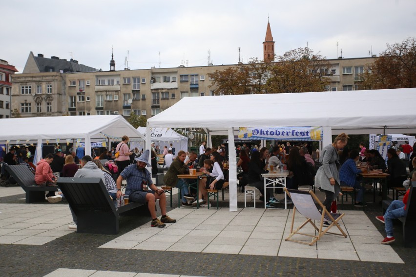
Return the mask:
<svg viewBox="0 0 416 277">
<path fill-rule="evenodd" d="M 11 117 L 12 83 L 10 76 L 15 72 L 17 72 L 17 69 L 13 65 L 0 59 L 0 119 Z"/>
</svg>

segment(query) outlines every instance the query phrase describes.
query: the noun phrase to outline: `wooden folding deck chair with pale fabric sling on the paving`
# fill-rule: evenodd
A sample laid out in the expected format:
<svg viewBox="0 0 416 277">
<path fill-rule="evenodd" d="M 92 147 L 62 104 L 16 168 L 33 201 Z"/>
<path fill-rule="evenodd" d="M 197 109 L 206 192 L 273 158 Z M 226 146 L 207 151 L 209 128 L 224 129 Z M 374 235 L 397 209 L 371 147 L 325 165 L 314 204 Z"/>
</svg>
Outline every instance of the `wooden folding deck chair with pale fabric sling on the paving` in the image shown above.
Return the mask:
<svg viewBox="0 0 416 277">
<path fill-rule="evenodd" d="M 289 235 L 289 237 L 287 237 L 285 239 L 286 241 L 289 240 L 289 241 L 302 243 L 302 244 L 308 244 L 309 246 L 312 246 L 314 243 L 316 243 L 316 241 L 320 240 L 321 237 L 323 235 L 325 235 L 326 233 L 332 234 L 332 235 L 347 237 L 347 235 L 342 230 L 341 226 L 339 226 L 339 224 L 338 224 L 338 221 L 345 214 L 332 214 L 329 211 L 327 211 L 325 206 L 322 205 L 321 201 L 319 201 L 319 199 L 316 197 L 316 195 L 312 191 L 292 190 L 292 189 L 286 189 L 286 188 L 284 188 L 284 190 L 289 195 L 289 197 L 292 199 L 293 204 L 294 204 L 293 216 L 292 216 L 292 222 L 291 222 L 291 234 Z M 315 202 L 320 208 L 322 208 L 322 213 L 319 212 L 318 208 L 316 207 Z M 307 220 L 305 222 L 303 222 L 296 230 L 293 230 L 293 224 L 294 224 L 294 218 L 295 218 L 296 210 L 302 216 L 307 218 Z M 320 220 L 319 227 L 317 227 L 315 225 L 315 223 L 313 223 L 312 220 Z M 328 227 L 325 227 L 325 229 L 322 230 L 324 221 L 332 221 L 332 224 Z M 312 226 L 315 228 L 316 235 L 305 234 L 305 233 L 300 233 L 299 232 L 308 223 L 311 223 Z M 341 234 L 328 232 L 333 226 L 336 226 L 338 228 L 338 230 L 341 232 Z M 312 237 L 312 241 L 310 243 L 308 243 L 308 242 L 305 242 L 305 241 L 299 241 L 299 240 L 292 239 L 292 237 L 296 234 Z"/>
</svg>

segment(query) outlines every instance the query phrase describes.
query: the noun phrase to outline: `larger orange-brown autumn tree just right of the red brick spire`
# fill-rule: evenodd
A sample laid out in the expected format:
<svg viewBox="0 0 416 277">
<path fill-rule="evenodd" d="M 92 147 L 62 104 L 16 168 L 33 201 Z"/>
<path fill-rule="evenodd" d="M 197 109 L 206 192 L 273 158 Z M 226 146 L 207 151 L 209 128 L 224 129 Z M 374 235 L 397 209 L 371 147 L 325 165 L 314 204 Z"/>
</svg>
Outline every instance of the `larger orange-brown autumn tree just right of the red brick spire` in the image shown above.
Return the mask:
<svg viewBox="0 0 416 277">
<path fill-rule="evenodd" d="M 269 69 L 268 93 L 325 91 L 330 79 L 330 63 L 308 47 L 298 48 L 277 56 Z"/>
</svg>

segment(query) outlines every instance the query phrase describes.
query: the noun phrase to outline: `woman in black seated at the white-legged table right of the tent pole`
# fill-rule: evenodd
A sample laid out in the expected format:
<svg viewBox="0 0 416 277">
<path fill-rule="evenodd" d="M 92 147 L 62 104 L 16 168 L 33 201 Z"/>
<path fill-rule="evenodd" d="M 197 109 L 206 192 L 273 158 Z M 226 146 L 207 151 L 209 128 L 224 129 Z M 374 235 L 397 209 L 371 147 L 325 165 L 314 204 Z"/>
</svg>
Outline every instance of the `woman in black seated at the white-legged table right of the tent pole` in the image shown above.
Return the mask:
<svg viewBox="0 0 416 277">
<path fill-rule="evenodd" d="M 279 203 L 279 201 L 274 197 L 270 198 L 270 195 L 273 194 L 273 188 L 267 189 L 266 192 L 264 191 L 264 181 L 261 178 L 261 174 L 264 173 L 269 173 L 269 171 L 264 169 L 264 161 L 260 159 L 260 153 L 258 151 L 254 151 L 253 154 L 251 154 L 251 160 L 249 163 L 248 182 L 250 186 L 256 187 L 260 190 L 260 200 L 266 202 L 267 208 L 271 208 L 273 207 L 273 203 Z"/>
</svg>

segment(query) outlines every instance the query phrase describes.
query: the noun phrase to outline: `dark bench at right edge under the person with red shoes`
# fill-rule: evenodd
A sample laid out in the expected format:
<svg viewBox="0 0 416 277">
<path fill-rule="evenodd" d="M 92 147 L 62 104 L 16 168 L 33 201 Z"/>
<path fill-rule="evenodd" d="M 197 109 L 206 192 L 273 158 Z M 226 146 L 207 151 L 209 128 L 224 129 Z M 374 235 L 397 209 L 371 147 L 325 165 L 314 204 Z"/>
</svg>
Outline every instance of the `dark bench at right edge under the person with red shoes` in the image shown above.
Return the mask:
<svg viewBox="0 0 416 277">
<path fill-rule="evenodd" d="M 416 244 L 416 181 L 410 185 L 409 197 L 407 199 L 406 214 L 402 218 L 397 218 L 403 225 L 404 247 L 412 247 Z M 392 201 L 383 201 L 383 210 L 387 210 Z"/>
</svg>

